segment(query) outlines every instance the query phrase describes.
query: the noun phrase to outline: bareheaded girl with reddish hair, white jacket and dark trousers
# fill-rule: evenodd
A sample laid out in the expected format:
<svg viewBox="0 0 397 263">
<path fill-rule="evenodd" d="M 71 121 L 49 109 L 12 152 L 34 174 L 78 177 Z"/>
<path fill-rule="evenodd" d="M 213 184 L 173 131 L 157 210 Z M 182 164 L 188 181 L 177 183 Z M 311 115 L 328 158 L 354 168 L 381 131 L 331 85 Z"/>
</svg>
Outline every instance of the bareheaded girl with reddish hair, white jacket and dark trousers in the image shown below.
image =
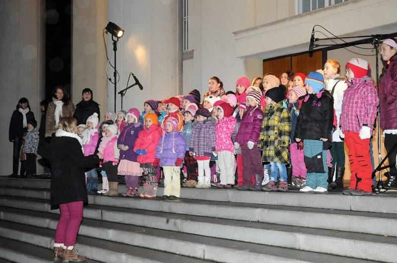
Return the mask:
<svg viewBox="0 0 397 263">
<path fill-rule="evenodd" d="M 328 59 L 324 64 L 324 78 L 326 84 L 326 90 L 331 93 L 333 98 L 333 108 L 336 115 L 336 129 L 332 134 L 332 147 L 330 149 L 332 156 L 332 168 L 329 169 L 328 173 L 328 189 L 343 188 L 343 174 L 344 174 L 344 143 L 339 137 L 339 118 L 342 112 L 342 101 L 343 93 L 347 89 L 347 84 L 345 83 L 345 78 L 339 76 L 340 64 L 338 61 L 333 59 Z M 333 173 L 336 170 L 335 182 L 332 182 Z"/>
</svg>

